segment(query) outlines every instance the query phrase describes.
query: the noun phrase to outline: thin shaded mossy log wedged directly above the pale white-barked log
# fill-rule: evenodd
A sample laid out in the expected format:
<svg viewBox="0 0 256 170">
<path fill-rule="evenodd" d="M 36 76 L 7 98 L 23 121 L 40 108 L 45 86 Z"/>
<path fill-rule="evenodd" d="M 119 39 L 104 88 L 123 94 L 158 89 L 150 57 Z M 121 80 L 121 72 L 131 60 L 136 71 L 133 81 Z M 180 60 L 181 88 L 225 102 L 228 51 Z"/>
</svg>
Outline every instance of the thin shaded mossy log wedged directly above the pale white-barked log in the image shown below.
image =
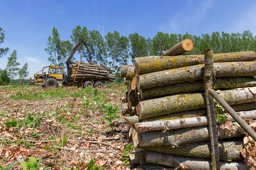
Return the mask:
<svg viewBox="0 0 256 170">
<path fill-rule="evenodd" d="M 256 102 L 231 105 L 231 108 L 233 108 L 234 111 L 236 112 L 253 111 L 253 110 L 256 110 Z M 142 122 L 157 121 L 157 120 L 174 120 L 174 119 L 181 119 L 181 118 L 184 119 L 189 117 L 205 116 L 205 115 L 207 115 L 206 109 L 195 109 L 195 110 L 171 113 L 171 114 L 157 116 L 157 117 L 151 117 L 148 119 L 143 119 Z"/>
</svg>

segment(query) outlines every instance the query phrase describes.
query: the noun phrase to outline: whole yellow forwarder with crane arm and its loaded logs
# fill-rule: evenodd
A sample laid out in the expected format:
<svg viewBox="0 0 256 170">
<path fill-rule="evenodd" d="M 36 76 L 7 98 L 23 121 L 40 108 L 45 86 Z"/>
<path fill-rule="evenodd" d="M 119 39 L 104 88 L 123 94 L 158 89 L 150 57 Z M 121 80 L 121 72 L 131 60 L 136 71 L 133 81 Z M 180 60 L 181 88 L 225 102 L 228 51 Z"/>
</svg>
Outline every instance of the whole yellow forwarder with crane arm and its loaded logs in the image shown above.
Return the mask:
<svg viewBox="0 0 256 170">
<path fill-rule="evenodd" d="M 71 62 L 76 50 L 81 43 L 86 47 L 89 59 L 86 62 Z M 67 75 L 64 75 L 62 67 L 57 65 L 49 65 L 44 67 L 41 71 L 34 74 L 34 82 L 29 78 L 29 85 L 42 85 L 42 87 L 58 87 L 59 84 L 67 86 L 83 86 L 83 87 L 97 87 L 103 88 L 103 82 L 116 82 L 117 78 L 114 74 L 115 70 L 104 65 L 93 64 L 91 52 L 83 39 L 76 42 L 73 51 L 67 58 Z M 48 73 L 44 72 L 48 69 Z"/>
</svg>

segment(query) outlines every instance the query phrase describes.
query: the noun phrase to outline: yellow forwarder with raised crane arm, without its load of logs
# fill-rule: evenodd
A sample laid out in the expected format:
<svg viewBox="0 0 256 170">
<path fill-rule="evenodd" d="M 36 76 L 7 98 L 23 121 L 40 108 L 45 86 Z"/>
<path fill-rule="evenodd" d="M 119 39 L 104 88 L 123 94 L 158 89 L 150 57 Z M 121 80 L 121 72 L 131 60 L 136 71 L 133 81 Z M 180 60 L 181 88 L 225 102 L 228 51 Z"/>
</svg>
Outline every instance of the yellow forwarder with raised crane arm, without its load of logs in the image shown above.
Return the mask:
<svg viewBox="0 0 256 170">
<path fill-rule="evenodd" d="M 79 45 L 81 45 L 81 43 L 84 44 L 89 54 L 88 63 L 79 62 L 81 64 L 86 65 L 84 68 L 85 71 L 83 71 L 82 74 L 78 72 L 78 69 L 76 69 L 76 67 L 73 66 L 74 62 L 71 62 L 73 55 L 76 53 L 76 50 L 79 48 Z M 66 86 L 83 86 L 84 88 L 85 87 L 103 88 L 103 83 L 101 81 L 108 82 L 108 79 L 101 78 L 100 70 L 97 70 L 99 71 L 99 76 L 95 76 L 95 75 L 92 76 L 88 74 L 88 71 L 86 70 L 87 68 L 100 69 L 100 68 L 107 68 L 107 67 L 93 64 L 93 61 L 91 58 L 91 52 L 83 39 L 79 39 L 79 41 L 76 42 L 73 48 L 73 51 L 71 52 L 70 56 L 67 58 L 66 64 L 67 64 L 67 75 L 64 75 L 63 67 L 58 67 L 58 65 L 49 65 L 44 67 L 41 71 L 38 71 L 36 74 L 34 74 L 34 82 L 30 77 L 28 84 L 41 85 L 44 88 L 55 88 L 55 87 L 58 87 L 59 84 L 63 84 Z M 47 70 L 47 69 L 48 69 L 48 72 L 44 72 L 44 70 Z M 92 69 L 88 69 L 88 70 L 92 70 Z M 115 76 L 113 75 L 112 78 L 115 79 Z"/>
</svg>

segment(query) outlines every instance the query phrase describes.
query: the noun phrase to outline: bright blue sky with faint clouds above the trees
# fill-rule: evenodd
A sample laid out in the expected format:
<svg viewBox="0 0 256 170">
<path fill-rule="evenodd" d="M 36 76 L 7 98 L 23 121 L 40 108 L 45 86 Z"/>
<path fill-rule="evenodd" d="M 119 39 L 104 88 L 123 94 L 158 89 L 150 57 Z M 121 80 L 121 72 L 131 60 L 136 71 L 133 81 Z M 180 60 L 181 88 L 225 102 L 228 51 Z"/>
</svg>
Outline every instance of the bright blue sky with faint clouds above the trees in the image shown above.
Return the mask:
<svg viewBox="0 0 256 170">
<path fill-rule="evenodd" d="M 103 36 L 108 31 L 152 38 L 157 31 L 201 35 L 247 29 L 256 35 L 255 0 L 0 0 L 0 8 L 0 27 L 6 31 L 1 48 L 17 50 L 20 64 L 29 64 L 29 77 L 49 65 L 44 48 L 53 26 L 61 40 L 70 40 L 76 25 Z M 0 68 L 10 53 L 0 59 Z"/>
</svg>

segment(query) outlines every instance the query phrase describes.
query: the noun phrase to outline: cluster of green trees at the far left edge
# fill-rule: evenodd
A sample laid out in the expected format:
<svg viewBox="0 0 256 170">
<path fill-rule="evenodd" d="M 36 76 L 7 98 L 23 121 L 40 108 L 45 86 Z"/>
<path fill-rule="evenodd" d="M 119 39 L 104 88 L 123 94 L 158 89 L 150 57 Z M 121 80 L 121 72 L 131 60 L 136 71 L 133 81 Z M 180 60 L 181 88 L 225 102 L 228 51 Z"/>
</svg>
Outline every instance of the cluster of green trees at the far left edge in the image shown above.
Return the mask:
<svg viewBox="0 0 256 170">
<path fill-rule="evenodd" d="M 0 27 L 0 45 L 3 43 L 5 38 L 5 31 Z M 4 57 L 9 53 L 9 48 L 0 48 L 0 58 Z M 17 51 L 13 50 L 10 57 L 8 57 L 8 62 L 5 69 L 0 69 L 0 85 L 10 85 L 11 80 L 14 81 L 15 77 L 19 77 L 19 84 L 22 80 L 28 77 L 28 63 L 25 63 L 21 68 L 20 62 L 17 62 Z"/>
</svg>

